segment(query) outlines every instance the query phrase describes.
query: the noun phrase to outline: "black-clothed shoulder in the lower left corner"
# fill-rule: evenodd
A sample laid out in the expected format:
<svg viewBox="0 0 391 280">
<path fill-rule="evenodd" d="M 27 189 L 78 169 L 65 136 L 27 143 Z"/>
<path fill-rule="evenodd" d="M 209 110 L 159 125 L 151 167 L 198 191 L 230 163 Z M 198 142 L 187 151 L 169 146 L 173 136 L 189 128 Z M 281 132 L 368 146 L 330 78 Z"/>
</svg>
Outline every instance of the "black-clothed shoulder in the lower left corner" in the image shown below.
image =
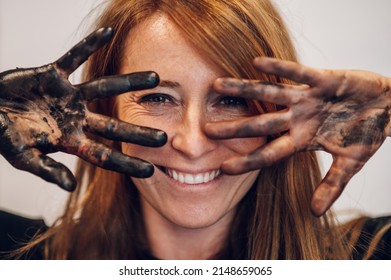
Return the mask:
<svg viewBox="0 0 391 280">
<path fill-rule="evenodd" d="M 0 259 L 21 245 L 29 242 L 38 232 L 47 229 L 42 219 L 28 219 L 5 211 L 0 211 Z M 42 255 L 36 251 L 31 252 L 29 259 L 40 259 Z"/>
</svg>

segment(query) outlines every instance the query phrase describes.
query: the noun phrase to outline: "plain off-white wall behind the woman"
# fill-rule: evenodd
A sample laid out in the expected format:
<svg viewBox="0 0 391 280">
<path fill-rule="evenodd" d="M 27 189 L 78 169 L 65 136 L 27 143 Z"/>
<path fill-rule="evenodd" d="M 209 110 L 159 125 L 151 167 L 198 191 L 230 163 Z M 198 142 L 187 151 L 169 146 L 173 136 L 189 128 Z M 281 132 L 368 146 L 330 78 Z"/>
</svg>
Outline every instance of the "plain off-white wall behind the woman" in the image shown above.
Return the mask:
<svg viewBox="0 0 391 280">
<path fill-rule="evenodd" d="M 101 0 L 0 0 L 0 71 L 39 66 L 56 60 L 85 34 L 89 11 Z M 276 0 L 301 62 L 319 68 L 366 69 L 391 77 L 391 2 L 388 0 Z M 77 82 L 78 78 L 71 78 Z M 387 140 L 347 186 L 336 203 L 351 210 L 391 213 L 391 144 Z M 322 154 L 327 170 L 331 163 Z M 73 156 L 56 160 L 73 169 Z M 0 158 L 0 209 L 50 223 L 61 211 L 66 192 L 11 167 Z"/>
</svg>

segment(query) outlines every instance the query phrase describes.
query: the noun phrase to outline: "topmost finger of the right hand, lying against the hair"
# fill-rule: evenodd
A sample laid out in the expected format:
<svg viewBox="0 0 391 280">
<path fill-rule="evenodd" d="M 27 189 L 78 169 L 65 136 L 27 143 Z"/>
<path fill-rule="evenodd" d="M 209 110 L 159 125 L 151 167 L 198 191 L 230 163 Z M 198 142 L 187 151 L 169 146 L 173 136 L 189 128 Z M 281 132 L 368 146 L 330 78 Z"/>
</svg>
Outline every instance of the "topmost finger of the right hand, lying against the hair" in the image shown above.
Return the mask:
<svg viewBox="0 0 391 280">
<path fill-rule="evenodd" d="M 319 80 L 319 71 L 293 61 L 279 60 L 271 57 L 257 57 L 254 59 L 257 70 L 274 74 L 289 80 L 314 86 Z"/>
</svg>

